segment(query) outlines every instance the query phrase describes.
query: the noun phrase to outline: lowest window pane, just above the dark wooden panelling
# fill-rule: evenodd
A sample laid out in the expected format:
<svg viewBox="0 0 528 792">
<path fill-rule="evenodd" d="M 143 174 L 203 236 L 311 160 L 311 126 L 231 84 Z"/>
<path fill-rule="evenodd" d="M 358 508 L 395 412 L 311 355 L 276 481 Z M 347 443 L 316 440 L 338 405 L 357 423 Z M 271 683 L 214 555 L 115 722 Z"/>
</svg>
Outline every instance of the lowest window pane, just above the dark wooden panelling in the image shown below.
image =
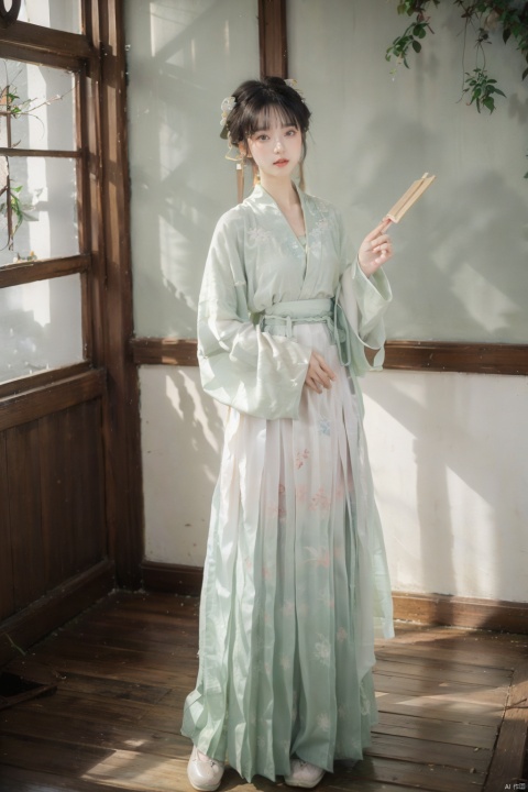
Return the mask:
<svg viewBox="0 0 528 792">
<path fill-rule="evenodd" d="M 80 276 L 0 289 L 0 382 L 82 360 Z"/>
</svg>

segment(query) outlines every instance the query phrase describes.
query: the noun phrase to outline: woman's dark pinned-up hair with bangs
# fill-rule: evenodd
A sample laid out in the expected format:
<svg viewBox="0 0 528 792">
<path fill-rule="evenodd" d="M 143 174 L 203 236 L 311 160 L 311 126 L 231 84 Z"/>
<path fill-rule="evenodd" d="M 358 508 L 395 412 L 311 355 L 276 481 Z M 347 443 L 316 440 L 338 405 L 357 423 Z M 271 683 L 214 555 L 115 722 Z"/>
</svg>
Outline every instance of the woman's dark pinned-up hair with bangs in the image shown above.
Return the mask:
<svg viewBox="0 0 528 792">
<path fill-rule="evenodd" d="M 264 77 L 242 82 L 232 96 L 235 105 L 227 118 L 226 130 L 233 145 L 242 143 L 248 148 L 248 139 L 268 124 L 274 111 L 284 124 L 300 130 L 304 158 L 311 113 L 295 88 L 282 77 Z"/>
</svg>

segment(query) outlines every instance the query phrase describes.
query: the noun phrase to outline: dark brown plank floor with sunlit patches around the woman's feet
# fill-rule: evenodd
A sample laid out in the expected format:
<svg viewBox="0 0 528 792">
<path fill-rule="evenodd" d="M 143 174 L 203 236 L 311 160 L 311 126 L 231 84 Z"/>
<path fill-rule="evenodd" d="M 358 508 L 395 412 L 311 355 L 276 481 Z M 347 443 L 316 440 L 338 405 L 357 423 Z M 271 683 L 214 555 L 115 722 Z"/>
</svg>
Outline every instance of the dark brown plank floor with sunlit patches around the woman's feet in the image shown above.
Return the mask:
<svg viewBox="0 0 528 792">
<path fill-rule="evenodd" d="M 13 670 L 55 680 L 57 690 L 0 711 L 1 792 L 190 790 L 179 726 L 197 636 L 197 600 L 118 593 L 15 661 Z M 369 756 L 338 766 L 318 789 L 528 790 L 518 780 L 527 644 L 526 636 L 399 625 L 395 640 L 377 646 L 381 715 Z M 282 780 L 245 783 L 228 769 L 221 792 L 277 787 Z"/>
</svg>

